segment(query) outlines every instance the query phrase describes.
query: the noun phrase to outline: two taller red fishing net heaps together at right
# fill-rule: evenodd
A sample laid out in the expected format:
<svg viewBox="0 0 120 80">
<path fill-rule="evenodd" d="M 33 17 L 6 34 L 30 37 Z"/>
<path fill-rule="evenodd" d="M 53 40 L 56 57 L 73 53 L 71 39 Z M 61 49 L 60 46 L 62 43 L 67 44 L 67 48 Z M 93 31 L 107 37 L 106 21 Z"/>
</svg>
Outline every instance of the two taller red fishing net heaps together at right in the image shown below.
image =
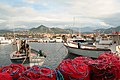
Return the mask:
<svg viewBox="0 0 120 80">
<path fill-rule="evenodd" d="M 63 60 L 57 69 L 65 80 L 119 80 L 120 58 L 113 53 L 101 53 L 97 59 L 76 57 Z"/>
</svg>

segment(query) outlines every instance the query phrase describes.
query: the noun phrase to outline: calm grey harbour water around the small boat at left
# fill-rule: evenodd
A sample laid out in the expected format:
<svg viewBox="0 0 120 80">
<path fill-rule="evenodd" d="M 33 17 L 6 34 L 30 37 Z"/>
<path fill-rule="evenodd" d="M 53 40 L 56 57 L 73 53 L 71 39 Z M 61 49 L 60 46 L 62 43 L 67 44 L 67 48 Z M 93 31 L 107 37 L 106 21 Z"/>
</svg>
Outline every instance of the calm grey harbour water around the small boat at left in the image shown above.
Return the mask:
<svg viewBox="0 0 120 80">
<path fill-rule="evenodd" d="M 46 54 L 46 59 L 43 66 L 56 68 L 59 63 L 68 57 L 68 52 L 63 43 L 29 43 L 31 48 L 42 50 Z M 10 53 L 16 50 L 16 46 L 0 44 L 0 66 L 11 64 Z"/>
</svg>

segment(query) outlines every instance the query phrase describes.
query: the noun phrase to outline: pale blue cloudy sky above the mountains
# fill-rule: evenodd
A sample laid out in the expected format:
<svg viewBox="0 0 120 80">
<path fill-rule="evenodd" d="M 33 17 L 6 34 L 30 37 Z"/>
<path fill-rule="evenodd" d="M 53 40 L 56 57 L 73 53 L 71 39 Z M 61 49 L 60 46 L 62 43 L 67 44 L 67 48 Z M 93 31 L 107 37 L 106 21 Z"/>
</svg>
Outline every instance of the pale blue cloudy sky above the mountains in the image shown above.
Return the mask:
<svg viewBox="0 0 120 80">
<path fill-rule="evenodd" d="M 0 0 L 0 29 L 120 26 L 120 0 Z"/>
</svg>

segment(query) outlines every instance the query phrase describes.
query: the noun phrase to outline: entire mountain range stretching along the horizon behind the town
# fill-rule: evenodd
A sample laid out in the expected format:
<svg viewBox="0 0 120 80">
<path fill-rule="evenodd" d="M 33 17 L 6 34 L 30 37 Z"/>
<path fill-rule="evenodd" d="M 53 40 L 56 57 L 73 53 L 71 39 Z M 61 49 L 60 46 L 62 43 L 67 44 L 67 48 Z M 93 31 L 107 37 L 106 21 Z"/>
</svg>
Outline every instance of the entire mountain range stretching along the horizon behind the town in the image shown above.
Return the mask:
<svg viewBox="0 0 120 80">
<path fill-rule="evenodd" d="M 96 27 L 70 27 L 70 28 L 49 28 L 44 25 L 40 25 L 36 28 L 31 29 L 25 29 L 25 28 L 15 28 L 14 31 L 25 31 L 29 30 L 31 32 L 39 32 L 39 33 L 54 33 L 54 34 L 68 34 L 68 33 L 93 33 L 93 32 L 100 32 L 100 33 L 111 33 L 113 31 L 120 31 L 120 26 L 118 27 L 111 27 L 111 28 L 96 28 Z M 8 30 L 0 30 L 0 33 L 6 33 L 6 32 L 13 32 L 13 29 Z"/>
</svg>

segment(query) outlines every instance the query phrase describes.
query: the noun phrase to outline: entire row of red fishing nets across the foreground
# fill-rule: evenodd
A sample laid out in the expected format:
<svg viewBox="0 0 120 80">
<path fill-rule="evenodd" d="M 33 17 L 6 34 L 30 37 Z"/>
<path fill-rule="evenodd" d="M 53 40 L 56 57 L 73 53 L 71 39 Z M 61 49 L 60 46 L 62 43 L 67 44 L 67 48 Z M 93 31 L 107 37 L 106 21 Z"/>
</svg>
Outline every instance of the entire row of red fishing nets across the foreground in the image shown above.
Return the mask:
<svg viewBox="0 0 120 80">
<path fill-rule="evenodd" d="M 105 52 L 94 60 L 65 59 L 56 69 L 10 64 L 0 68 L 0 80 L 120 80 L 120 58 Z"/>
</svg>

